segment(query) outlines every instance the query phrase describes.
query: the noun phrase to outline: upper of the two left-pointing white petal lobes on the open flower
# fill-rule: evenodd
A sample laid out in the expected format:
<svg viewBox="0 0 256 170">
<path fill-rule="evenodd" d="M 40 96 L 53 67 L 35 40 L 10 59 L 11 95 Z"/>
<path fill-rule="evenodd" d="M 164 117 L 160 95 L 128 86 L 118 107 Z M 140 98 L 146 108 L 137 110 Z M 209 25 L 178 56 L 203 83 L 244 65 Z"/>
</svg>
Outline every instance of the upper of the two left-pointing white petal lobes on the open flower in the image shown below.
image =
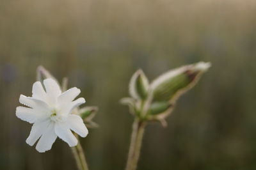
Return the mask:
<svg viewBox="0 0 256 170">
<path fill-rule="evenodd" d="M 32 107 L 33 109 L 36 109 L 36 111 L 44 112 L 44 113 L 51 112 L 48 105 L 45 104 L 45 102 L 43 102 L 42 100 L 38 100 L 36 98 L 20 95 L 19 101 L 20 101 L 20 104 L 24 104 L 28 107 Z"/>
</svg>

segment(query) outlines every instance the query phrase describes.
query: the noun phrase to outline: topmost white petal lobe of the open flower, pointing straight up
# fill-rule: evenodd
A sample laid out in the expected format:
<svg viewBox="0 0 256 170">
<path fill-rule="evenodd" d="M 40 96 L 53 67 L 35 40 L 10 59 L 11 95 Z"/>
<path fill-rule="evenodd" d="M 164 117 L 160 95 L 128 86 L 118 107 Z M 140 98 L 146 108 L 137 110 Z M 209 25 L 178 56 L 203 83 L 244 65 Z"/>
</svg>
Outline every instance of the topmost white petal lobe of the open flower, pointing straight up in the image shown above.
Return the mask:
<svg viewBox="0 0 256 170">
<path fill-rule="evenodd" d="M 61 89 L 59 84 L 54 81 L 54 79 L 45 79 L 44 86 L 48 96 L 48 104 L 54 105 L 57 98 L 61 95 Z"/>
</svg>

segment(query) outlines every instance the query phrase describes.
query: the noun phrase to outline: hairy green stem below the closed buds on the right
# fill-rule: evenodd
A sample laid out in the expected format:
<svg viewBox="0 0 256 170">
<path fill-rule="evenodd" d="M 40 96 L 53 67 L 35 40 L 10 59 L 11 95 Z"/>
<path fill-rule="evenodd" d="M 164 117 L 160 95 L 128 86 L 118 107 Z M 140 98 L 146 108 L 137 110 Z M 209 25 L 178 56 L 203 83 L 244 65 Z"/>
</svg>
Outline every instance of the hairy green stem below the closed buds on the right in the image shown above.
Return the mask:
<svg viewBox="0 0 256 170">
<path fill-rule="evenodd" d="M 140 158 L 141 143 L 145 131 L 145 121 L 134 120 L 132 125 L 131 144 L 125 170 L 136 170 Z"/>
</svg>

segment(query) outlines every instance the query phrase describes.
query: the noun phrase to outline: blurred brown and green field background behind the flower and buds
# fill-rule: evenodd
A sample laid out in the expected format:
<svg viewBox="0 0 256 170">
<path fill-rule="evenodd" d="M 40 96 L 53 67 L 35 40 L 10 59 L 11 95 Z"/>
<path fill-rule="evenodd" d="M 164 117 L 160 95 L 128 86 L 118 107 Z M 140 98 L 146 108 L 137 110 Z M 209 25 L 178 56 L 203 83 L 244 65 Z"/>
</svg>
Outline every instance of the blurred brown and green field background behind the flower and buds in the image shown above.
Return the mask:
<svg viewBox="0 0 256 170">
<path fill-rule="evenodd" d="M 60 139 L 38 153 L 15 116 L 43 65 L 86 105 L 100 127 L 81 139 L 92 170 L 124 169 L 132 116 L 119 104 L 138 68 L 148 78 L 180 65 L 212 68 L 168 117 L 148 125 L 139 170 L 256 169 L 256 1 L 0 0 L 0 169 L 69 170 Z"/>
</svg>

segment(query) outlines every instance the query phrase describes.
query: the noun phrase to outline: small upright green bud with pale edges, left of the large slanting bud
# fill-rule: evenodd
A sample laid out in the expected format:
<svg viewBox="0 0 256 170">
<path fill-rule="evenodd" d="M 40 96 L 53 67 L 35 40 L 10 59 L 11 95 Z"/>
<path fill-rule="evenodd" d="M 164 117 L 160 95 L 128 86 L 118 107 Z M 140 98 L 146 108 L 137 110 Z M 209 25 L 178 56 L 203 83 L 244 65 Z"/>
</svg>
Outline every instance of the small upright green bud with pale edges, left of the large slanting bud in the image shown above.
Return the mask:
<svg viewBox="0 0 256 170">
<path fill-rule="evenodd" d="M 148 95 L 148 79 L 142 70 L 138 70 L 132 75 L 129 93 L 132 98 L 145 100 Z"/>
</svg>

